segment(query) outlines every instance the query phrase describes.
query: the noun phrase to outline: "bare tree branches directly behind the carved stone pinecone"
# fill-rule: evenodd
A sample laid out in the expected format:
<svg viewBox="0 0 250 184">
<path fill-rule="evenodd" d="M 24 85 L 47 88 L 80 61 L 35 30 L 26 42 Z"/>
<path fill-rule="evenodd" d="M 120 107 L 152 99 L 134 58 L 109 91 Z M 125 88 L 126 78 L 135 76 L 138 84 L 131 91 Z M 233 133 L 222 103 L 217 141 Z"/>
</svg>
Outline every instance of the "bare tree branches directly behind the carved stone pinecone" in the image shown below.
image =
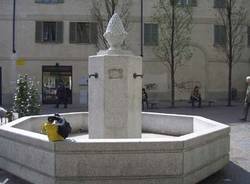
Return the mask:
<svg viewBox="0 0 250 184">
<path fill-rule="evenodd" d="M 131 0 L 92 0 L 92 16 L 97 21 L 98 49 L 107 49 L 108 43 L 103 34 L 109 19 L 116 12 L 121 17 L 125 29 L 128 28 Z"/>
</svg>

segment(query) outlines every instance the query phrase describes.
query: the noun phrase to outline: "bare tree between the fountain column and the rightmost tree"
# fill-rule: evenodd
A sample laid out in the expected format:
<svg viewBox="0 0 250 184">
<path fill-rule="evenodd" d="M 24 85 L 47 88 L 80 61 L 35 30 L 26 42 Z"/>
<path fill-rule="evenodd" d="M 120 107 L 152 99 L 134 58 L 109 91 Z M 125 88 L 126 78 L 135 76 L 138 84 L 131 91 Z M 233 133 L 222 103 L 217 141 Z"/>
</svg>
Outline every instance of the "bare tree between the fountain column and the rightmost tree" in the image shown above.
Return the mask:
<svg viewBox="0 0 250 184">
<path fill-rule="evenodd" d="M 160 32 L 155 54 L 171 73 L 171 106 L 174 107 L 176 70 L 184 59 L 192 56 L 192 4 L 182 4 L 180 0 L 158 0 L 153 20 L 158 23 Z"/>
</svg>

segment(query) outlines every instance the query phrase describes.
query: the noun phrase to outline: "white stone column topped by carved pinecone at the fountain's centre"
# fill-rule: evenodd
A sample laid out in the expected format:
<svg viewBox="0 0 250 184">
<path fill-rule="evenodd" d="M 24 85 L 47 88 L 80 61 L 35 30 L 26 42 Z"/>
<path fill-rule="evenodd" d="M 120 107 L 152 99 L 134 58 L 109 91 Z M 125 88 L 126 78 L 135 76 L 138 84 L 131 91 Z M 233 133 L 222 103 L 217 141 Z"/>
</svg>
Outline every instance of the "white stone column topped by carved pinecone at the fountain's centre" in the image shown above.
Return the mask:
<svg viewBox="0 0 250 184">
<path fill-rule="evenodd" d="M 114 16 L 106 31 L 111 39 L 117 32 L 110 25 L 120 21 Z M 111 49 L 89 57 L 89 138 L 140 138 L 142 59 L 107 40 Z"/>
</svg>

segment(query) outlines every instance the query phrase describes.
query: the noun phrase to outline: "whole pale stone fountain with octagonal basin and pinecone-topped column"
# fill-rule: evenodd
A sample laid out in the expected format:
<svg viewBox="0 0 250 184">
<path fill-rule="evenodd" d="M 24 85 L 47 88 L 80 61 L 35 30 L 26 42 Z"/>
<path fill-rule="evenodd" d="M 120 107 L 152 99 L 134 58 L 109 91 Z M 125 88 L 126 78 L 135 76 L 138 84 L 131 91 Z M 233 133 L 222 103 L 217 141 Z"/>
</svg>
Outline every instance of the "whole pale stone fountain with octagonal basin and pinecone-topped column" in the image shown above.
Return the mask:
<svg viewBox="0 0 250 184">
<path fill-rule="evenodd" d="M 228 163 L 227 125 L 141 113 L 142 61 L 121 49 L 126 35 L 115 14 L 105 33 L 110 49 L 89 58 L 89 113 L 62 114 L 71 137 L 40 134 L 49 115 L 0 127 L 1 169 L 35 184 L 192 184 Z"/>
</svg>

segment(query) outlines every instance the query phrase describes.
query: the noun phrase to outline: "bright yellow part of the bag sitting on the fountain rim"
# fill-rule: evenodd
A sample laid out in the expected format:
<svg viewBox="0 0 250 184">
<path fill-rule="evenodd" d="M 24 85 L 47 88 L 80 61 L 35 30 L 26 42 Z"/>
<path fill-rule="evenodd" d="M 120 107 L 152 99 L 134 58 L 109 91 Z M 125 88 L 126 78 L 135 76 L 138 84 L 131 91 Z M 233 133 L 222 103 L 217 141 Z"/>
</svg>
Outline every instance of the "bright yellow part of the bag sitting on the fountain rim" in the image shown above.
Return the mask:
<svg viewBox="0 0 250 184">
<path fill-rule="evenodd" d="M 45 122 L 42 125 L 41 132 L 43 134 L 47 134 L 50 141 L 63 141 L 64 138 L 58 134 L 58 125 L 56 123 L 56 120 L 53 118 L 48 118 L 48 122 Z"/>
</svg>

